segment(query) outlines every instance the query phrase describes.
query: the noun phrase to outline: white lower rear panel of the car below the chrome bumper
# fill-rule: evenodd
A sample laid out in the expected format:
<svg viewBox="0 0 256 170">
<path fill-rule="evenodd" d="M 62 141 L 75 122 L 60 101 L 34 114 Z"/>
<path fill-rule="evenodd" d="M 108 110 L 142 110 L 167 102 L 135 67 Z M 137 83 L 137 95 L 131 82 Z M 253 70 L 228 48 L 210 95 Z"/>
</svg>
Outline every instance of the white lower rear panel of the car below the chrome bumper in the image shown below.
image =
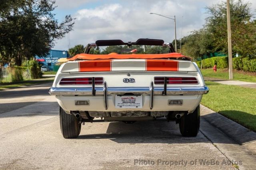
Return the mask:
<svg viewBox="0 0 256 170">
<path fill-rule="evenodd" d="M 62 96 L 56 97 L 59 105 L 65 111 L 106 111 L 104 108 L 104 100 L 102 96 Z M 183 105 L 168 105 L 168 99 L 183 100 Z M 191 113 L 196 109 L 202 99 L 202 95 L 187 95 L 187 96 L 155 96 L 154 107 L 150 109 L 150 97 L 143 95 L 143 107 L 141 109 L 120 109 L 115 107 L 115 95 L 108 96 L 108 110 L 115 111 L 188 111 Z M 77 106 L 76 100 L 90 100 L 89 106 Z"/>
</svg>

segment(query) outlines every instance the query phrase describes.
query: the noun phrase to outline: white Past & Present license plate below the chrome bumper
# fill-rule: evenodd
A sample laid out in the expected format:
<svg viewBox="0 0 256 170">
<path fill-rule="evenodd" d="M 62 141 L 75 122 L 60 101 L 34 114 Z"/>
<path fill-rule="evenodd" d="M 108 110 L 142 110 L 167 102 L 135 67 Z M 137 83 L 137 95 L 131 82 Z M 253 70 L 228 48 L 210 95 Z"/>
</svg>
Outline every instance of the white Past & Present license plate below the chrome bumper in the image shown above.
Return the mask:
<svg viewBox="0 0 256 170">
<path fill-rule="evenodd" d="M 142 108 L 142 95 L 120 96 L 116 95 L 116 108 L 137 109 Z"/>
</svg>

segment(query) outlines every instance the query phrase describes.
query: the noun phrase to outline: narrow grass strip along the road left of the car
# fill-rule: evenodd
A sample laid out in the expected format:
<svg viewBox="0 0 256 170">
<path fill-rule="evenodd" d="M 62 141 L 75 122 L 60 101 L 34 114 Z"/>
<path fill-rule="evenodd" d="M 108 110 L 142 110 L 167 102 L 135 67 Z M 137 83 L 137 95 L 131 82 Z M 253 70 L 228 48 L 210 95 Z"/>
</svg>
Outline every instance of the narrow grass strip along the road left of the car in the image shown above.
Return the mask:
<svg viewBox="0 0 256 170">
<path fill-rule="evenodd" d="M 47 78 L 25 80 L 25 81 L 14 82 L 14 83 L 0 83 L 0 91 L 4 89 L 13 89 L 13 88 L 18 88 L 22 86 L 50 83 L 53 81 L 54 81 L 54 77 L 47 77 Z"/>
</svg>

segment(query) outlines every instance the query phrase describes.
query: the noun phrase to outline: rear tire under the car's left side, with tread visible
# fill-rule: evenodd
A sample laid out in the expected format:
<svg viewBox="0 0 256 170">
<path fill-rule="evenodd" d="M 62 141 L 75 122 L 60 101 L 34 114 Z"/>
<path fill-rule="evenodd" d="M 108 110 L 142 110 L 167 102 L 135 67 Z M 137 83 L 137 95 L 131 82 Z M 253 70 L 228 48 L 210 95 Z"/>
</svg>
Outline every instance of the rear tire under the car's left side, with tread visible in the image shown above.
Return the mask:
<svg viewBox="0 0 256 170">
<path fill-rule="evenodd" d="M 74 115 L 67 114 L 60 107 L 60 130 L 64 138 L 77 138 L 81 131 L 81 124 Z"/>
</svg>

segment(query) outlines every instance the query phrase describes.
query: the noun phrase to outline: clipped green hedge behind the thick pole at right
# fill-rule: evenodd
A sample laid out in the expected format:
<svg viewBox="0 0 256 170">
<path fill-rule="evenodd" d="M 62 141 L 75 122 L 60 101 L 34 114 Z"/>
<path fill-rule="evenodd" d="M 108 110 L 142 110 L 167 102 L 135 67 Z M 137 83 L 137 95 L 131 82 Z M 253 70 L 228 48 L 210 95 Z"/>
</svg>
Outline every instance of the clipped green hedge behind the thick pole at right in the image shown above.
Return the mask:
<svg viewBox="0 0 256 170">
<path fill-rule="evenodd" d="M 256 59 L 249 59 L 248 57 L 234 57 L 233 59 L 233 68 L 237 70 L 244 70 L 250 72 L 256 72 Z M 228 57 L 212 57 L 208 59 L 203 59 L 202 61 L 196 61 L 198 67 L 202 68 L 212 68 L 214 65 L 217 65 L 217 68 L 228 68 Z"/>
</svg>

